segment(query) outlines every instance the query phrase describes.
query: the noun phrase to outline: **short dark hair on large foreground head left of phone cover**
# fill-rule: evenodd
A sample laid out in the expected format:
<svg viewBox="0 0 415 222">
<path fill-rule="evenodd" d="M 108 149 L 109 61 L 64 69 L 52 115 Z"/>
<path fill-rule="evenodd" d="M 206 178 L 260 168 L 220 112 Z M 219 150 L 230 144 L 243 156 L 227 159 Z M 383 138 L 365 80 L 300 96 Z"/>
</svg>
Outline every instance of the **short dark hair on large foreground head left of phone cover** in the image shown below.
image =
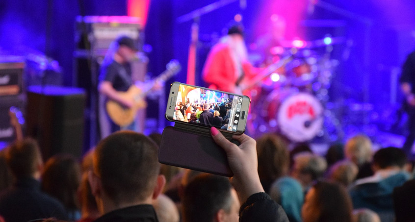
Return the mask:
<svg viewBox="0 0 415 222">
<path fill-rule="evenodd" d="M 153 140 L 133 131 L 118 131 L 102 140 L 93 162 L 106 195 L 116 203 L 151 196 L 160 171 L 157 152 Z"/>
</svg>

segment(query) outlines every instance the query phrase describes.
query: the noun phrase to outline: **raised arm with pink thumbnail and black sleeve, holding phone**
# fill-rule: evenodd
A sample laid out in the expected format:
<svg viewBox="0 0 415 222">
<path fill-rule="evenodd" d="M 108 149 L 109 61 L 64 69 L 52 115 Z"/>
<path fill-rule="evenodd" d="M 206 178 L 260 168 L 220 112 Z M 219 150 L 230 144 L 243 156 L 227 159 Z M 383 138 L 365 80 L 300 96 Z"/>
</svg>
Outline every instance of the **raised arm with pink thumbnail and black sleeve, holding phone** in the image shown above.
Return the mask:
<svg viewBox="0 0 415 222">
<path fill-rule="evenodd" d="M 233 171 L 232 184 L 243 203 L 239 221 L 288 222 L 283 208 L 264 193 L 259 181 L 256 141 L 245 134 L 233 136 L 240 142 L 238 147 L 214 127 L 210 128 L 210 134 L 225 150 Z"/>
</svg>

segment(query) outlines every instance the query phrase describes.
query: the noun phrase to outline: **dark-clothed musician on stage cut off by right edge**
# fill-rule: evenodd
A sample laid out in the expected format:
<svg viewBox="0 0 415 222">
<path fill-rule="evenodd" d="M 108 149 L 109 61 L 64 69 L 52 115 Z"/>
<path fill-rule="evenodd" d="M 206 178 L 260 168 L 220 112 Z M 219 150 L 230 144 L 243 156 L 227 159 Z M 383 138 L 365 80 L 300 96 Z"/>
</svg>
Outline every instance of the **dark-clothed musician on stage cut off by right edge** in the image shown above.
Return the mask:
<svg viewBox="0 0 415 222">
<path fill-rule="evenodd" d="M 403 145 L 403 150 L 409 159 L 413 159 L 412 146 L 415 141 L 415 51 L 408 55 L 400 77 L 401 89 L 405 96 L 404 109 L 408 113 L 409 135 Z"/>
</svg>

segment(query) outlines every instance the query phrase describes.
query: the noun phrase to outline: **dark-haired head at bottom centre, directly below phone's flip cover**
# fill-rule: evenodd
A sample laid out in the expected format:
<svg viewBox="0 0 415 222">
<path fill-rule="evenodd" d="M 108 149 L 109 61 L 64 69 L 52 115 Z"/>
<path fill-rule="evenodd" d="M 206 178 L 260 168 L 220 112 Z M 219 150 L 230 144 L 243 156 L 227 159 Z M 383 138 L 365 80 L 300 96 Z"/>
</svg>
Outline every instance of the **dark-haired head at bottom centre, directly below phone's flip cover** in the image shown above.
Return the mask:
<svg viewBox="0 0 415 222">
<path fill-rule="evenodd" d="M 229 178 L 196 176 L 184 188 L 183 222 L 237 222 L 240 203 Z"/>
</svg>

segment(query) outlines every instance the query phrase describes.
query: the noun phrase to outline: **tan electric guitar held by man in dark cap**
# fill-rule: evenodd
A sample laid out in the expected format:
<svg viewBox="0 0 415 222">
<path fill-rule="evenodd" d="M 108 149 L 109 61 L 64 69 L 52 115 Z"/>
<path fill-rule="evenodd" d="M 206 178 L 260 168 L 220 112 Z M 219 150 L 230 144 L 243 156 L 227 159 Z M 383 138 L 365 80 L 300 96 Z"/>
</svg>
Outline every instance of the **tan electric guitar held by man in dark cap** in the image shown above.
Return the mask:
<svg viewBox="0 0 415 222">
<path fill-rule="evenodd" d="M 137 111 L 147 106 L 145 101 L 146 95 L 153 89 L 156 83 L 166 81 L 181 69 L 179 61 L 172 59 L 166 65 L 166 70 L 149 83 L 144 84 L 142 87 L 132 85 L 126 92 L 119 92 L 120 97 L 134 101 L 131 108 L 127 108 L 115 100 L 108 99 L 105 102 L 105 109 L 109 118 L 119 126 L 130 125 L 134 121 Z"/>
</svg>

